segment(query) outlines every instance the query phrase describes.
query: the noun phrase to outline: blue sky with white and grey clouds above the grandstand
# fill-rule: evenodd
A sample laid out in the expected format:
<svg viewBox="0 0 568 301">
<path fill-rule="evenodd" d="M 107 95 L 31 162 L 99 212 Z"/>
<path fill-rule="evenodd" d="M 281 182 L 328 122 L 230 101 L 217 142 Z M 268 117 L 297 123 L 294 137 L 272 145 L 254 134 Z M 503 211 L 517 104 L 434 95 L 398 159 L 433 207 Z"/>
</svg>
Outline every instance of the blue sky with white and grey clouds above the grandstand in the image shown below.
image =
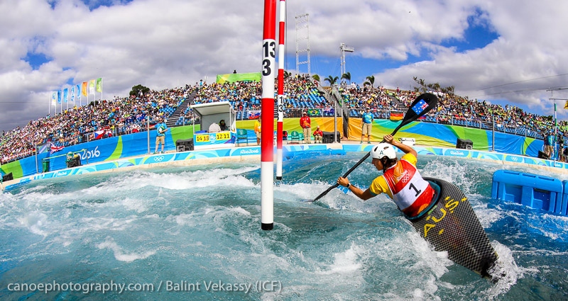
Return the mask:
<svg viewBox="0 0 568 301">
<path fill-rule="evenodd" d="M 341 77 L 344 42 L 355 48 L 346 71 L 359 84 L 373 75 L 389 89 L 412 89 L 417 76 L 543 115 L 553 114 L 550 98 L 568 98 L 568 91 L 547 91 L 568 86 L 561 29 L 568 1 L 285 3 L 290 72 L 295 16 L 308 13 L 311 71 L 322 79 Z M 263 1 L 2 1 L 0 13 L 1 130 L 53 113 L 53 91 L 98 77 L 111 99 L 136 84 L 164 89 L 261 66 Z M 561 102 L 558 117 L 567 119 Z"/>
</svg>

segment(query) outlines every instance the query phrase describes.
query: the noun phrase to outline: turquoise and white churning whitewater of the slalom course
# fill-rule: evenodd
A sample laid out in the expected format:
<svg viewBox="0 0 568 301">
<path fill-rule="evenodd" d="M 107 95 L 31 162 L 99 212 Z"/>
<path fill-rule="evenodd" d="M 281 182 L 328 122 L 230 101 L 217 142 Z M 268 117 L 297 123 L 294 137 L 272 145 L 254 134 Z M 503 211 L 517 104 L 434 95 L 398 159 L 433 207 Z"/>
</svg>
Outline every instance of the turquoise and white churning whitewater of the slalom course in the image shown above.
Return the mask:
<svg viewBox="0 0 568 301">
<path fill-rule="evenodd" d="M 285 161 L 273 231 L 261 230 L 260 164 L 33 181 L 0 195 L 0 298 L 566 300 L 568 217 L 491 199 L 491 176 L 567 175 L 419 158 L 424 176 L 452 181 L 468 196 L 500 256 L 496 273 L 506 273 L 491 283 L 432 251 L 383 195 L 361 202 L 334 189 L 317 203 L 302 201 L 362 156 Z M 349 178 L 366 187 L 377 174 L 366 161 Z M 45 293 L 49 285 L 54 291 Z"/>
</svg>

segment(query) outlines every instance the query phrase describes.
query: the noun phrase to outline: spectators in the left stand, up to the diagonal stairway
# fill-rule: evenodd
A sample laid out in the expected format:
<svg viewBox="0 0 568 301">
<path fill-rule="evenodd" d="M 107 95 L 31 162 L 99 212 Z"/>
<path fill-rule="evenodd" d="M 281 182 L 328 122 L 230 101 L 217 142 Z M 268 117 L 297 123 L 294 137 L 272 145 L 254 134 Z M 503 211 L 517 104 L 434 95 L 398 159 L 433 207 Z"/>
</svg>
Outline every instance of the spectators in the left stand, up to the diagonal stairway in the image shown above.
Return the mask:
<svg viewBox="0 0 568 301">
<path fill-rule="evenodd" d="M 75 106 L 61 113 L 31 120 L 25 127 L 3 132 L 0 142 L 1 163 L 33 154 L 35 147 L 79 144 L 117 134 L 142 130 L 146 116 L 165 117 L 178 106 L 188 89 L 150 91 L 145 95 L 97 101 Z"/>
</svg>

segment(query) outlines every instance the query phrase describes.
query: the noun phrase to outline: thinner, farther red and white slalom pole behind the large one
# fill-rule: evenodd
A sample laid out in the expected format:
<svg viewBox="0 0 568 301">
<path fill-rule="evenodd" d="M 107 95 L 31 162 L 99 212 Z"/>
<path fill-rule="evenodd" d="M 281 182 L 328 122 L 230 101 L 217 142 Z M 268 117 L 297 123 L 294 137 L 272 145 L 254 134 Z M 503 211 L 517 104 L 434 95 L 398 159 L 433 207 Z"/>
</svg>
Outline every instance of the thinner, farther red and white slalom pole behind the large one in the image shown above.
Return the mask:
<svg viewBox="0 0 568 301">
<path fill-rule="evenodd" d="M 286 30 L 286 2 L 280 0 L 278 22 L 278 120 L 276 123 L 276 180 L 282 180 L 282 140 L 284 121 L 284 38 Z"/>
</svg>

